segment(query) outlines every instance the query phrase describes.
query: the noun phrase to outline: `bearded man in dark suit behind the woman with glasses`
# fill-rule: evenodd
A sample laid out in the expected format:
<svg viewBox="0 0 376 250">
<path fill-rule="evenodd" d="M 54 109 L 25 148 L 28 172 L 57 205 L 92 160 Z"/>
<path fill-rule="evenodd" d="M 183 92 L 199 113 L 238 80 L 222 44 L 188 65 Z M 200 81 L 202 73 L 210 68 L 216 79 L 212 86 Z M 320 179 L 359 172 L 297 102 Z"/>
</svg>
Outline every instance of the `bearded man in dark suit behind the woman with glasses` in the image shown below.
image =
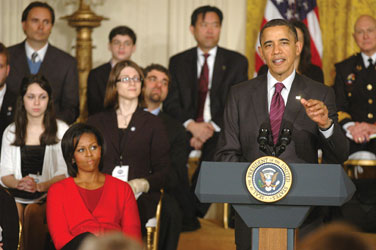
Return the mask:
<svg viewBox="0 0 376 250">
<path fill-rule="evenodd" d="M 169 174 L 167 193 L 178 202 L 183 215 L 182 231 L 194 231 L 200 228 L 195 215 L 194 197 L 189 191 L 187 161 L 189 145 L 182 124 L 161 110 L 168 94 L 170 74 L 159 64 L 151 64 L 144 69 L 144 86 L 142 89 L 147 110 L 160 117 L 167 129 L 170 142 L 170 161 L 173 171 Z M 164 249 L 164 248 L 162 248 Z"/>
</svg>

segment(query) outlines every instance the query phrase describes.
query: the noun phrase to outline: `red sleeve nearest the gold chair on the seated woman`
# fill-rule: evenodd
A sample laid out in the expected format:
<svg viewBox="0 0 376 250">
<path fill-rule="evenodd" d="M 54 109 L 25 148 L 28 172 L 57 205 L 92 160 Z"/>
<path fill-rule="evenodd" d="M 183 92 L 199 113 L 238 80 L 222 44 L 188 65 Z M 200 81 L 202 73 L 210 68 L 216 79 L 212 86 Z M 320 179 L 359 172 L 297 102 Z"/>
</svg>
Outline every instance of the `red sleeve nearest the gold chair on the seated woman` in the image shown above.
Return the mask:
<svg viewBox="0 0 376 250">
<path fill-rule="evenodd" d="M 123 199 L 123 215 L 121 217 L 121 230 L 125 235 L 129 235 L 138 241 L 142 240 L 140 216 L 138 213 L 137 202 L 134 197 L 133 191 L 128 183 L 121 183 L 124 185 Z"/>
</svg>

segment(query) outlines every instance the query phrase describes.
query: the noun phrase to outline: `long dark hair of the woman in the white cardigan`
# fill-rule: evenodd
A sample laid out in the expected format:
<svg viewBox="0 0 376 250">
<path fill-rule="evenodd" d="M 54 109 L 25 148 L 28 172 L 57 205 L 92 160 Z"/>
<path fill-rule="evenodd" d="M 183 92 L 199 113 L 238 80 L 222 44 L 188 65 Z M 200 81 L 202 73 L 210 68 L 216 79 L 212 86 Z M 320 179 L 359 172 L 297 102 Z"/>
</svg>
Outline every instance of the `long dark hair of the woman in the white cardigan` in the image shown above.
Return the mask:
<svg viewBox="0 0 376 250">
<path fill-rule="evenodd" d="M 25 145 L 26 127 L 28 120 L 24 105 L 24 96 L 29 86 L 34 83 L 38 84 L 39 87 L 41 87 L 48 94 L 48 104 L 43 117 L 44 131 L 40 135 L 40 144 L 51 145 L 56 144 L 59 141 L 56 136 L 57 122 L 52 97 L 52 88 L 44 76 L 37 74 L 24 77 L 21 82 L 20 93 L 17 97 L 16 112 L 14 119 L 14 124 L 16 126 L 16 139 L 12 144 L 14 146 Z"/>
</svg>

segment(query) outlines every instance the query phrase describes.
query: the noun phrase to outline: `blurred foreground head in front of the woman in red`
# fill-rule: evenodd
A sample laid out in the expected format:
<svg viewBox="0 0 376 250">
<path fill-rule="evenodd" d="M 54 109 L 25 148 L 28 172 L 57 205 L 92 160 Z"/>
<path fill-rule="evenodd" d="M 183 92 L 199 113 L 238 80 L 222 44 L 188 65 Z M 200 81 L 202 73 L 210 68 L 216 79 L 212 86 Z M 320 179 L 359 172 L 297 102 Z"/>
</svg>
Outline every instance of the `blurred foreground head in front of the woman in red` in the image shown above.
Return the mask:
<svg viewBox="0 0 376 250">
<path fill-rule="evenodd" d="M 124 234 L 108 233 L 101 237 L 88 237 L 82 243 L 80 250 L 143 250 L 143 247 Z"/>
</svg>

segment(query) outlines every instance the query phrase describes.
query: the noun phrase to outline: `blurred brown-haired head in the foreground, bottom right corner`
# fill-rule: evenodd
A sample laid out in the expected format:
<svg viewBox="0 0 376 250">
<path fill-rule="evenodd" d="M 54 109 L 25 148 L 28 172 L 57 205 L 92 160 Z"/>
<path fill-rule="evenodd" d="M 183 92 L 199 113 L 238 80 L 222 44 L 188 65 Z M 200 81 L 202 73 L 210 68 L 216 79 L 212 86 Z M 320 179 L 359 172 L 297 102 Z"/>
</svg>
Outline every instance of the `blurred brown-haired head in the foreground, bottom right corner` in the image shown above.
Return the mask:
<svg viewBox="0 0 376 250">
<path fill-rule="evenodd" d="M 371 250 L 370 241 L 350 225 L 333 223 L 307 235 L 298 243 L 298 250 Z"/>
</svg>

